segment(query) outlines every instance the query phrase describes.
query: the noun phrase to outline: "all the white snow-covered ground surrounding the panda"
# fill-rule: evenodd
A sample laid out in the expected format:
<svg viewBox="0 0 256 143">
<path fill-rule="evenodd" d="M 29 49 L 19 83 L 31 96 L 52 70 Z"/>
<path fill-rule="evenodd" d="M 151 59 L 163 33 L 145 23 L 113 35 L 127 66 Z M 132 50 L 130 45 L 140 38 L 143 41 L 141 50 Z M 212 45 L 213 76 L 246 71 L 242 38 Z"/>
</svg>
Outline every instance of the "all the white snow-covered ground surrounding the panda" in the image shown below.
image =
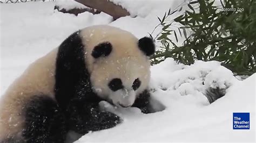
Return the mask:
<svg viewBox="0 0 256 143">
<path fill-rule="evenodd" d="M 109 24 L 142 38 L 158 24 L 169 8 L 182 1 L 111 0 L 132 15 L 112 21 L 104 13 L 76 17 L 53 11 L 54 2 L 0 4 L 0 95 L 32 61 L 57 47 L 72 32 L 90 25 Z M 132 5 L 133 4 L 133 5 Z M 178 13 L 177 13 L 178 15 Z M 174 15 L 175 16 L 175 15 Z M 174 38 L 173 38 L 174 39 Z M 177 64 L 166 59 L 151 68 L 152 97 L 164 111 L 144 115 L 136 108 L 112 109 L 123 123 L 84 135 L 77 142 L 94 141 L 255 141 L 256 74 L 239 81 L 219 62 Z M 209 87 L 227 88 L 224 97 L 210 104 L 203 95 Z M 233 112 L 250 112 L 250 130 L 233 130 Z"/>
</svg>

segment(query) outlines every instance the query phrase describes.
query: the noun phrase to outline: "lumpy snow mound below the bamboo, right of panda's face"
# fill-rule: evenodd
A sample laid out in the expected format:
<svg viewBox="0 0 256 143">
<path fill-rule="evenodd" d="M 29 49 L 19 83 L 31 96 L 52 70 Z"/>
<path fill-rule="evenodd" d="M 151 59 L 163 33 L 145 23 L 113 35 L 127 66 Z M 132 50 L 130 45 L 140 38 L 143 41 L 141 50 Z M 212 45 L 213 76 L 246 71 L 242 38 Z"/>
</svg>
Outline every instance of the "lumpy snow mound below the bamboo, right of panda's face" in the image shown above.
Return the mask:
<svg viewBox="0 0 256 143">
<path fill-rule="evenodd" d="M 166 77 L 170 80 L 166 80 Z M 185 66 L 172 58 L 167 58 L 152 67 L 150 86 L 165 90 L 178 89 L 181 92 L 187 87 L 188 92 L 194 93 L 203 92 L 209 87 L 226 89 L 235 81 L 232 71 L 220 66 L 218 61 L 196 61 L 191 66 Z M 188 92 L 185 95 L 188 95 Z"/>
</svg>

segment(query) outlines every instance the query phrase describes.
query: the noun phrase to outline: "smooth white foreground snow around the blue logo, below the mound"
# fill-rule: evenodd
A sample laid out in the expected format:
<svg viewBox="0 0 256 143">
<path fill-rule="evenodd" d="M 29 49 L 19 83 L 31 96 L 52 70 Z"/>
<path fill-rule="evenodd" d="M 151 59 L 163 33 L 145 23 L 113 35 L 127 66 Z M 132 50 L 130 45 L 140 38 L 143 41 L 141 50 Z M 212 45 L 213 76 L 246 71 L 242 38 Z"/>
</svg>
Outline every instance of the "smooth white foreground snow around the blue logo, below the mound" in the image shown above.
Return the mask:
<svg viewBox="0 0 256 143">
<path fill-rule="evenodd" d="M 254 141 L 255 77 L 235 82 L 223 98 L 211 105 L 203 96 L 175 96 L 158 89 L 153 96 L 164 103 L 164 111 L 144 115 L 136 108 L 114 109 L 124 119 L 122 124 L 86 134 L 77 142 Z M 234 131 L 232 112 L 250 112 L 251 129 Z"/>
</svg>

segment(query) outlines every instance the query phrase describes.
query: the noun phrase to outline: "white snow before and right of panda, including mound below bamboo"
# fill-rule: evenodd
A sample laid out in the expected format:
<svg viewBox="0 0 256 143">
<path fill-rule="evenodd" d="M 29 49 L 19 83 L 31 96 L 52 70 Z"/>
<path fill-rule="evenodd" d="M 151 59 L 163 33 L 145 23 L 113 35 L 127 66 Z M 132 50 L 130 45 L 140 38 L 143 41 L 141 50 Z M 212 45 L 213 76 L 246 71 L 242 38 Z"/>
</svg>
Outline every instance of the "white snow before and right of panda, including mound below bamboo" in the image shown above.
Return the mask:
<svg viewBox="0 0 256 143">
<path fill-rule="evenodd" d="M 185 66 L 172 58 L 151 71 L 152 98 L 165 110 L 143 114 L 137 108 L 118 109 L 105 103 L 104 108 L 122 117 L 123 123 L 85 134 L 76 142 L 254 141 L 254 123 L 248 131 L 234 131 L 232 113 L 250 112 L 251 121 L 255 120 L 256 74 L 239 81 L 217 61 Z M 212 104 L 203 94 L 211 83 L 212 88 L 227 88 L 226 95 Z"/>
</svg>

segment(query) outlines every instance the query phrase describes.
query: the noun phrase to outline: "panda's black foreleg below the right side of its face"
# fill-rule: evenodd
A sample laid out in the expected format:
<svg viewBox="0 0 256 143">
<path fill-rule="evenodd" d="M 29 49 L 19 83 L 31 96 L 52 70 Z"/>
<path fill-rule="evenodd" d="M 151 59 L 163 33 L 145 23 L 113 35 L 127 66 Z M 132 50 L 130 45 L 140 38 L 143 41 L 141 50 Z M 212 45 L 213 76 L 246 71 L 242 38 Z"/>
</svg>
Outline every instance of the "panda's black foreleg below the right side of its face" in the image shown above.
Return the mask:
<svg viewBox="0 0 256 143">
<path fill-rule="evenodd" d="M 137 107 L 142 110 L 143 113 L 152 113 L 153 111 L 150 109 L 150 93 L 145 90 L 140 94 L 135 102 L 132 105 L 133 107 Z"/>
</svg>

